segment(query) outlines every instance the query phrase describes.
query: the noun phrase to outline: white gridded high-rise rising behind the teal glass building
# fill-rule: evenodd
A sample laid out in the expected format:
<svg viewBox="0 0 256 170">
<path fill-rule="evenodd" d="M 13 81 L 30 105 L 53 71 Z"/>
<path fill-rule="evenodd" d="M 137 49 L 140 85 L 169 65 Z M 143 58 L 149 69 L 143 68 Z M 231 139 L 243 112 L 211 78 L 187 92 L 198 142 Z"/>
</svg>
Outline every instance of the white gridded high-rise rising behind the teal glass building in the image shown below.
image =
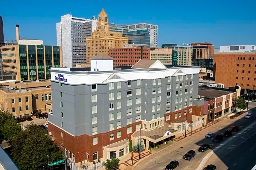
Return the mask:
<svg viewBox="0 0 256 170">
<path fill-rule="evenodd" d="M 157 36 L 158 36 L 158 26 L 147 23 L 131 24 L 128 25 L 129 30 L 136 30 L 138 28 L 148 28 L 150 34 L 150 46 L 157 47 Z"/>
</svg>

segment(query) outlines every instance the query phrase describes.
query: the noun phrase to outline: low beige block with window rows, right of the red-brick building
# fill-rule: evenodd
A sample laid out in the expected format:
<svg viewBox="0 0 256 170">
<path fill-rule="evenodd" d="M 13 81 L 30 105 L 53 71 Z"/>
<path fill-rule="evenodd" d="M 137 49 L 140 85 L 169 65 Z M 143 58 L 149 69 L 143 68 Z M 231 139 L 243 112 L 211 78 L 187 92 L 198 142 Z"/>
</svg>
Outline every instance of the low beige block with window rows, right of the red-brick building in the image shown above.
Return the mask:
<svg viewBox="0 0 256 170">
<path fill-rule="evenodd" d="M 163 64 L 172 64 L 172 49 L 155 49 L 151 51 L 151 60 L 159 60 Z"/>
</svg>

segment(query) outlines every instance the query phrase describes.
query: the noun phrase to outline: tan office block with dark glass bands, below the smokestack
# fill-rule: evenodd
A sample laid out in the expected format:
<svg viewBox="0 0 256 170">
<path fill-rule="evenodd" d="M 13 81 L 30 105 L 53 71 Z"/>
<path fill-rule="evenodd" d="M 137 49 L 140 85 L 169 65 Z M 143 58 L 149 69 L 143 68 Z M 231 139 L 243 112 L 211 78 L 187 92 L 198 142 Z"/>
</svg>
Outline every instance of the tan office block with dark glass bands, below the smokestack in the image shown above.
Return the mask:
<svg viewBox="0 0 256 170">
<path fill-rule="evenodd" d="M 49 69 L 62 67 L 61 46 L 19 44 L 0 47 L 0 51 L 4 72 L 16 74 L 16 81 L 50 79 Z"/>
</svg>

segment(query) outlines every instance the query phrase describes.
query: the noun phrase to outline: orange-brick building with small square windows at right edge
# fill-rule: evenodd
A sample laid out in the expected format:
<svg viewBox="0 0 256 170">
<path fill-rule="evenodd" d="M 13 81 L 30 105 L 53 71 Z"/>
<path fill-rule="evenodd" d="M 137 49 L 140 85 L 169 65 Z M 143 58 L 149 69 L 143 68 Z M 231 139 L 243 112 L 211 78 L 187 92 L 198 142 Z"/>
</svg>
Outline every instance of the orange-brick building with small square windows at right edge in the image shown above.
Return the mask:
<svg viewBox="0 0 256 170">
<path fill-rule="evenodd" d="M 256 52 L 223 52 L 214 55 L 213 77 L 225 87 L 241 86 L 252 92 L 256 86 Z"/>
</svg>

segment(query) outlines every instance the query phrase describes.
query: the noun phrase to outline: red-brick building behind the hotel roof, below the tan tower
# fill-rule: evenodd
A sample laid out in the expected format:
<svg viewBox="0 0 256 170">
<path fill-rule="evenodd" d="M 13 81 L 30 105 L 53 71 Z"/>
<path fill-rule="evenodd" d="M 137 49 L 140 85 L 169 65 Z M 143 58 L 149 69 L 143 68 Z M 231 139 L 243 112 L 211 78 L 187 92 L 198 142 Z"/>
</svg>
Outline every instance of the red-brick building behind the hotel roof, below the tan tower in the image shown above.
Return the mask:
<svg viewBox="0 0 256 170">
<path fill-rule="evenodd" d="M 127 45 L 124 48 L 109 49 L 108 52 L 114 58 L 114 66 L 133 66 L 140 59 L 150 60 L 150 48 L 147 47 Z"/>
</svg>

